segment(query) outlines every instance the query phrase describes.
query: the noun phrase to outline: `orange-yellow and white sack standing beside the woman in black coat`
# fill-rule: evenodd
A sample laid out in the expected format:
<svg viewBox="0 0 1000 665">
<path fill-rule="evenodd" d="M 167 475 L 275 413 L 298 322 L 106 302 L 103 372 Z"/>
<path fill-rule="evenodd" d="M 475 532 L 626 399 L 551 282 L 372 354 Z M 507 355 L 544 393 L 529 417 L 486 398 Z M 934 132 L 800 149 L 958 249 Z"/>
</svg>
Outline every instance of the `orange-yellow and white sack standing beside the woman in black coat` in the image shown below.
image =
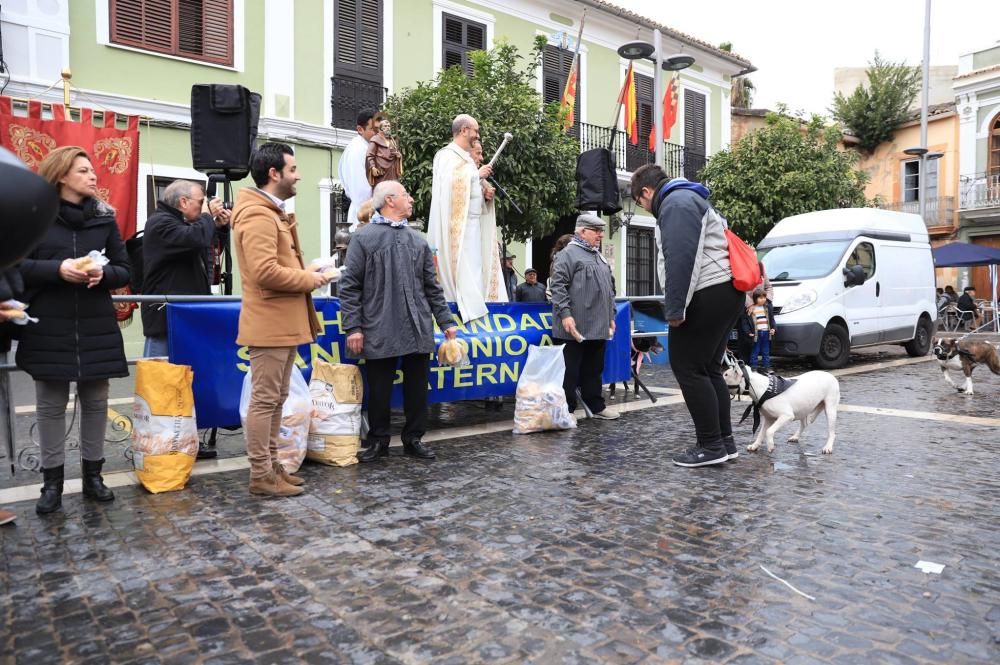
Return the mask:
<svg viewBox="0 0 1000 665">
<path fill-rule="evenodd" d="M 150 492 L 184 489 L 198 455 L 194 372 L 187 365 L 140 360 L 135 366 L 132 464 Z"/>
</svg>

